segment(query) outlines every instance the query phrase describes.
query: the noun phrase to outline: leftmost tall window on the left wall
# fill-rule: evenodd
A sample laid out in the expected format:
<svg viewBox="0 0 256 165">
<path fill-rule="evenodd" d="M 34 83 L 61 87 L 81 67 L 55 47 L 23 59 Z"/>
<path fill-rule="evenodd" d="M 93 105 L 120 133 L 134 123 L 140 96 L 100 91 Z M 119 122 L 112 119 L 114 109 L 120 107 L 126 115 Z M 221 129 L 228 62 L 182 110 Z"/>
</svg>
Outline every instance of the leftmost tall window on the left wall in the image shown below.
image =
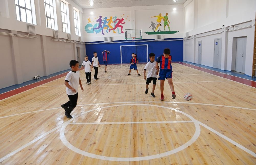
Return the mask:
<svg viewBox="0 0 256 165">
<path fill-rule="evenodd" d="M 15 0 L 17 20 L 36 24 L 34 0 Z"/>
</svg>

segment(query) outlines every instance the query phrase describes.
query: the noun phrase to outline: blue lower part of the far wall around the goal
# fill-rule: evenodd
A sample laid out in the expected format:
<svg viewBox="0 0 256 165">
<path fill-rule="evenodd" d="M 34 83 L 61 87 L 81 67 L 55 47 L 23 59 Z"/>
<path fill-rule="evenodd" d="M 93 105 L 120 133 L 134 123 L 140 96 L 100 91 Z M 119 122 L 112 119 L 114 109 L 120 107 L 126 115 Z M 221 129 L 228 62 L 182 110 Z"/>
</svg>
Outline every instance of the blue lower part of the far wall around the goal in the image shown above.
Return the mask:
<svg viewBox="0 0 256 165">
<path fill-rule="evenodd" d="M 141 41 L 141 40 L 140 40 Z M 116 41 L 115 41 L 116 42 Z M 104 64 L 102 52 L 110 51 L 108 64 L 121 64 L 120 45 L 148 45 L 148 54 L 154 53 L 156 57 L 163 54 L 165 48 L 171 50 L 173 62 L 183 61 L 183 41 L 145 41 L 145 42 L 123 42 L 123 43 L 102 43 L 86 44 L 86 55 L 92 60 L 93 52 L 97 52 L 99 63 Z M 132 58 L 132 56 L 130 57 Z"/>
</svg>

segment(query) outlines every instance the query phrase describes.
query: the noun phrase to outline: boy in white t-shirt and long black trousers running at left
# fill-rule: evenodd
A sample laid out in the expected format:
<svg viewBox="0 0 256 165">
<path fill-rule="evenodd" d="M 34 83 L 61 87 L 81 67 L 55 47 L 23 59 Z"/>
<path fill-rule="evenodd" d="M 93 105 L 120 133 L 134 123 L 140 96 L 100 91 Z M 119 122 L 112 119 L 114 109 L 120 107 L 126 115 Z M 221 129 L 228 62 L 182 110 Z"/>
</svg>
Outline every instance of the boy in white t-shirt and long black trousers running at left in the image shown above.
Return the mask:
<svg viewBox="0 0 256 165">
<path fill-rule="evenodd" d="M 80 80 L 80 73 L 78 71 L 79 69 L 79 62 L 76 60 L 71 60 L 69 62 L 69 66 L 71 67 L 71 70 L 67 74 L 65 78 L 65 85 L 66 85 L 66 92 L 69 98 L 69 101 L 65 104 L 62 104 L 61 107 L 65 109 L 65 115 L 67 118 L 71 119 L 73 118 L 70 113 L 73 111 L 73 109 L 77 106 L 77 98 L 78 98 L 78 85 L 80 85 L 80 88 L 83 91 L 82 83 Z"/>
</svg>

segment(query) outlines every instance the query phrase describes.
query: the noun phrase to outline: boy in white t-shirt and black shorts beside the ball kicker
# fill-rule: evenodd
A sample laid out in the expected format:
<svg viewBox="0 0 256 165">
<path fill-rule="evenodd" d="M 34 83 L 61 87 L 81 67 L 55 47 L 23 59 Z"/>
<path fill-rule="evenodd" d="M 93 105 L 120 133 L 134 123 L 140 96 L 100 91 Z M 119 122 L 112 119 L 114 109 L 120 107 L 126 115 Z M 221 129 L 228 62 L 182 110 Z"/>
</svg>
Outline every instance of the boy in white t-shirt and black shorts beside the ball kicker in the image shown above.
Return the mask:
<svg viewBox="0 0 256 165">
<path fill-rule="evenodd" d="M 156 88 L 156 78 L 157 78 L 157 75 L 158 75 L 159 67 L 157 69 L 155 68 L 156 61 L 155 61 L 155 54 L 154 53 L 149 54 L 149 59 L 150 59 L 150 61 L 146 64 L 146 66 L 144 68 L 144 79 L 146 80 L 146 91 L 145 91 L 145 93 L 147 94 L 148 85 L 153 80 L 153 89 L 152 89 L 151 96 L 156 97 L 154 95 L 154 91 L 155 91 L 155 88 Z M 147 70 L 147 79 L 146 79 L 146 70 Z"/>
</svg>

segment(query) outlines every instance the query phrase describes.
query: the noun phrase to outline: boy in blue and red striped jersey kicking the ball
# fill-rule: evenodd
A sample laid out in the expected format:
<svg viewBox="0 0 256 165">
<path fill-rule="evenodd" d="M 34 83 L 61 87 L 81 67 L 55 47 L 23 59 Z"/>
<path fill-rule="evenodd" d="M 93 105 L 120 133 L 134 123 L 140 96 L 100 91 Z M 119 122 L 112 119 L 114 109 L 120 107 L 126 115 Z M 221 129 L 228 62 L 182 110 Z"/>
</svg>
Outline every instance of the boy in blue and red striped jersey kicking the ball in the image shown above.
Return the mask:
<svg viewBox="0 0 256 165">
<path fill-rule="evenodd" d="M 170 86 L 170 89 L 172 91 L 172 97 L 173 99 L 176 98 L 175 92 L 174 92 L 174 86 L 173 86 L 173 70 L 172 70 L 172 56 L 170 55 L 170 49 L 165 48 L 164 54 L 157 57 L 156 59 L 156 66 L 155 68 L 158 68 L 158 63 L 160 63 L 160 73 L 159 78 L 160 80 L 160 91 L 161 91 L 161 101 L 164 100 L 164 81 L 165 78 L 168 80 L 168 84 Z"/>
</svg>

